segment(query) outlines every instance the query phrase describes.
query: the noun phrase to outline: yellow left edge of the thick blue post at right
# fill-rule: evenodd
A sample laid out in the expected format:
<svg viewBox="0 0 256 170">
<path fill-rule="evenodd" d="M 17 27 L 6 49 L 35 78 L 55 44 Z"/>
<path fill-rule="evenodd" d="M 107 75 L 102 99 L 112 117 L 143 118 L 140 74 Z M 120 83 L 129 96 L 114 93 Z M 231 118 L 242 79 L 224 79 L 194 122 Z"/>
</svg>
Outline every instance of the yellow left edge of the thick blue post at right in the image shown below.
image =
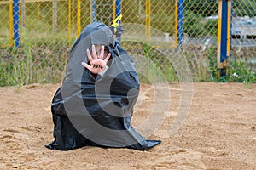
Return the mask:
<svg viewBox="0 0 256 170">
<path fill-rule="evenodd" d="M 218 0 L 218 53 L 217 53 L 217 68 L 223 68 L 220 63 L 220 45 L 221 45 L 221 23 L 222 23 L 222 0 Z"/>
</svg>

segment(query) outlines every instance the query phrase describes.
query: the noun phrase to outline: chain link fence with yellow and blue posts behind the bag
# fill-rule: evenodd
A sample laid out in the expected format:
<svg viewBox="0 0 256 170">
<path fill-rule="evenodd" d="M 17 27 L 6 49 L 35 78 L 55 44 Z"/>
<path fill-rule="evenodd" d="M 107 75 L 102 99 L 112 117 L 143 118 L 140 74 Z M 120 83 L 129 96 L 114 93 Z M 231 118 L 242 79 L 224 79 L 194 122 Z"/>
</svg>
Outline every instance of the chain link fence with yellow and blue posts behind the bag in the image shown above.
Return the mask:
<svg viewBox="0 0 256 170">
<path fill-rule="evenodd" d="M 183 58 L 193 81 L 211 80 L 211 62 L 217 56 L 217 0 L 119 2 L 125 29 L 120 43 L 128 53 L 153 60 L 168 82 L 178 81 L 177 62 Z M 114 0 L 20 0 L 19 48 L 13 37 L 13 8 L 13 0 L 0 1 L 0 86 L 61 82 L 69 51 L 84 26 L 93 20 L 110 26 L 119 7 Z M 242 59 L 252 70 L 255 10 L 253 0 L 232 1 L 230 59 Z"/>
</svg>

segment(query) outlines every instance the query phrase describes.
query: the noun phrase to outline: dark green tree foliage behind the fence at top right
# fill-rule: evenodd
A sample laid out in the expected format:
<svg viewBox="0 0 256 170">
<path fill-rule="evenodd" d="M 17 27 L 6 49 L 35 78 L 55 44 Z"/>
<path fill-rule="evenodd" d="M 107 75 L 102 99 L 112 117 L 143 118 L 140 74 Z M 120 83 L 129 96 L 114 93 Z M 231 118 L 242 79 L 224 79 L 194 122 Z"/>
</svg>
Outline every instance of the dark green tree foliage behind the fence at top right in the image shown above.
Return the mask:
<svg viewBox="0 0 256 170">
<path fill-rule="evenodd" d="M 204 17 L 218 14 L 218 1 L 183 0 L 183 32 L 189 37 L 208 35 L 217 36 L 218 20 L 207 20 L 204 26 L 201 21 Z M 254 17 L 256 14 L 255 0 L 232 1 L 232 12 L 236 16 Z"/>
</svg>

